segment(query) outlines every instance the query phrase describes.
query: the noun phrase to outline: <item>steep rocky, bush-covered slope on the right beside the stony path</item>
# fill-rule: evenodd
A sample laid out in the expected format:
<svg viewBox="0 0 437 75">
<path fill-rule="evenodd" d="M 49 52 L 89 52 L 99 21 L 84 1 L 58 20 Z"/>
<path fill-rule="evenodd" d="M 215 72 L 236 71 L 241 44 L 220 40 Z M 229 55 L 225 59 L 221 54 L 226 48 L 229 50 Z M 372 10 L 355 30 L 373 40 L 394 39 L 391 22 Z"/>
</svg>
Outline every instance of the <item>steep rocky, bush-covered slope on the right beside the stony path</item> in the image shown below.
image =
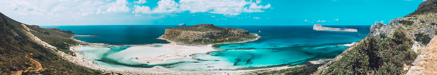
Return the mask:
<svg viewBox="0 0 437 75">
<path fill-rule="evenodd" d="M 437 0 L 427 0 L 406 17 L 376 23 L 366 38 L 319 67 L 314 75 L 406 74 L 418 53 L 437 34 Z"/>
</svg>

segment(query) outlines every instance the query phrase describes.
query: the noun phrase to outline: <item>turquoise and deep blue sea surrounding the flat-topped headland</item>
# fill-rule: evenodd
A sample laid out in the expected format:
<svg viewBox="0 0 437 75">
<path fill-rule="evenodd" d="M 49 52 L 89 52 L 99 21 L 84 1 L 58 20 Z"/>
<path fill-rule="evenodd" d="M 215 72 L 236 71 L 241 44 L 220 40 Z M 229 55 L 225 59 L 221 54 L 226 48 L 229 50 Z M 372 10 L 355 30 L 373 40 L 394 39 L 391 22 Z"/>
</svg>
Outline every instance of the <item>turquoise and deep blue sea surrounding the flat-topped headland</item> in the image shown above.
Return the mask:
<svg viewBox="0 0 437 75">
<path fill-rule="evenodd" d="M 85 26 L 41 26 L 72 30 L 75 34 L 99 35 L 80 37 L 82 41 L 105 44 L 154 44 L 166 43 L 157 40 L 166 25 L 85 25 Z M 332 59 L 341 54 L 346 46 L 360 41 L 369 33 L 370 25 L 326 25 L 334 28 L 354 28 L 358 32 L 314 31 L 312 26 L 219 26 L 248 30 L 259 34 L 257 41 L 236 44 L 217 44 L 213 47 L 224 49 L 212 53 L 199 53 L 193 58 L 168 60 L 158 65 L 147 65 L 131 59 L 124 59 L 120 51 L 129 47 L 108 47 L 80 51 L 87 59 L 96 60 L 100 66 L 143 67 L 164 66 L 174 71 L 208 71 L 238 68 L 253 68 L 276 65 L 308 64 L 310 60 Z M 119 29 L 120 28 L 120 29 Z M 261 31 L 261 32 L 258 32 Z M 138 41 L 136 41 L 138 40 Z M 111 56 L 114 55 L 114 56 Z M 108 56 L 109 55 L 109 56 Z M 115 56 L 117 55 L 117 56 Z"/>
</svg>

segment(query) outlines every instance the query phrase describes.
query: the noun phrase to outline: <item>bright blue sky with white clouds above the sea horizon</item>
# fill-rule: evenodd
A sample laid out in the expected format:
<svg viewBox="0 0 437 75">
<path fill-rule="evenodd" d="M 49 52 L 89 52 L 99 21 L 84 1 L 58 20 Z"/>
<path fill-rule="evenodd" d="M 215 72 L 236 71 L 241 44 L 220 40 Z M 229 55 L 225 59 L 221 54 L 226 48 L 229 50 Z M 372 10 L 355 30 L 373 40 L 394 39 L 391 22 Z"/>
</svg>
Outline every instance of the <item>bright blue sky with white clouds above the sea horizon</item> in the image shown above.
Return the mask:
<svg viewBox="0 0 437 75">
<path fill-rule="evenodd" d="M 424 0 L 2 0 L 28 25 L 373 25 Z"/>
</svg>

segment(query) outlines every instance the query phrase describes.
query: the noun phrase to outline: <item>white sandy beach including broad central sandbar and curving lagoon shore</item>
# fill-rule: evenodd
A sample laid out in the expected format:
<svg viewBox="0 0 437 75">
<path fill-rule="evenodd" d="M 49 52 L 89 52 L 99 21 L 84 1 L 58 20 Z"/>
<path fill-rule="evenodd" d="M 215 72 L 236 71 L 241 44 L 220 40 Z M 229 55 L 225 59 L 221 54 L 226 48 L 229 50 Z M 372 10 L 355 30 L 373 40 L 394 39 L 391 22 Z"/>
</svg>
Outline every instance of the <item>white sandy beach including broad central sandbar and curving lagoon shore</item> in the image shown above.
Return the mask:
<svg viewBox="0 0 437 75">
<path fill-rule="evenodd" d="M 256 34 L 258 36 L 258 34 Z M 85 36 L 85 37 L 90 37 L 90 36 L 86 36 L 86 35 L 77 35 L 77 36 L 73 36 L 72 39 L 76 38 L 76 37 L 81 37 L 81 36 Z M 256 41 L 260 38 L 260 36 L 258 36 L 258 38 L 252 40 L 252 41 Z M 177 45 L 175 42 L 169 41 L 167 39 L 164 38 L 157 38 L 157 39 L 162 39 L 162 40 L 166 40 L 168 42 L 170 42 L 170 44 L 146 44 L 146 45 L 122 45 L 122 46 L 132 46 L 129 47 L 126 50 L 123 50 L 119 53 L 129 53 L 129 51 L 139 51 L 139 49 L 143 49 L 143 48 L 147 48 L 147 50 L 142 50 L 143 52 L 139 52 L 139 53 L 149 53 L 149 52 L 154 52 L 154 51 L 158 51 L 158 50 L 163 50 L 163 52 L 154 52 L 154 54 L 143 54 L 145 56 L 141 56 L 141 57 L 135 57 L 135 56 L 130 56 L 130 57 L 135 57 L 135 59 L 138 59 L 139 61 L 147 61 L 149 63 L 149 65 L 153 65 L 153 64 L 160 64 L 165 62 L 166 60 L 171 60 L 171 59 L 180 59 L 180 58 L 192 58 L 190 55 L 192 54 L 196 54 L 196 53 L 208 53 L 208 52 L 214 52 L 214 51 L 220 51 L 220 50 L 215 50 L 212 48 L 213 44 L 209 44 L 205 47 L 193 47 L 193 46 L 184 46 L 184 45 Z M 87 43 L 84 41 L 80 41 L 80 40 L 76 40 L 75 41 L 79 41 L 79 42 L 83 42 L 86 43 L 88 45 L 77 45 L 77 46 L 73 46 L 70 47 L 70 50 L 75 52 L 76 56 L 70 56 L 66 53 L 62 53 L 60 52 L 60 55 L 62 55 L 65 59 L 76 63 L 80 66 L 85 66 L 88 67 L 90 69 L 95 69 L 95 70 L 100 70 L 103 72 L 116 72 L 116 73 L 121 73 L 121 74 L 148 74 L 148 75 L 174 75 L 174 74 L 180 74 L 180 75 L 241 75 L 241 74 L 246 74 L 246 73 L 251 73 L 251 72 L 264 72 L 264 71 L 272 71 L 272 70 L 280 70 L 280 69 L 287 69 L 287 68 L 291 68 L 290 66 L 283 66 L 283 67 L 274 67 L 274 68 L 268 68 L 268 69 L 256 69 L 256 70 L 234 70 L 234 71 L 205 71 L 205 72 L 201 72 L 201 71 L 187 71 L 187 72 L 177 72 L 177 71 L 172 71 L 166 68 L 163 68 L 162 66 L 155 66 L 153 68 L 133 68 L 133 67 L 120 67 L 120 68 L 104 68 L 101 67 L 99 65 L 97 65 L 96 63 L 94 63 L 94 61 L 90 61 L 88 59 L 85 58 L 85 56 L 83 56 L 82 54 L 80 54 L 78 52 L 78 50 L 75 50 L 79 47 L 99 47 L 96 45 L 105 45 L 105 46 L 116 46 L 116 47 L 120 47 L 119 45 L 108 45 L 108 44 L 98 44 L 98 43 Z M 244 41 L 244 42 L 249 42 L 249 41 Z M 243 42 L 238 42 L 238 43 L 243 43 Z M 162 47 L 154 47 L 156 45 L 160 45 Z M 132 54 L 135 55 L 135 54 Z M 129 56 L 126 56 L 129 57 Z"/>
</svg>

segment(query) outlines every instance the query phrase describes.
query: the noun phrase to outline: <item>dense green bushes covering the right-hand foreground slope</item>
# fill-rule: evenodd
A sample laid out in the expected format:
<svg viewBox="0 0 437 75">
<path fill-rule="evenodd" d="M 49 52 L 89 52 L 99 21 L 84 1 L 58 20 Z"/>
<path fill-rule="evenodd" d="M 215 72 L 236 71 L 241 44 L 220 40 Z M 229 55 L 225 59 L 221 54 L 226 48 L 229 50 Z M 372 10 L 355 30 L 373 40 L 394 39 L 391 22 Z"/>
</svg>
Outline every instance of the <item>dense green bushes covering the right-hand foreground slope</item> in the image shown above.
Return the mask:
<svg viewBox="0 0 437 75">
<path fill-rule="evenodd" d="M 395 28 L 393 38 L 366 37 L 326 69 L 326 75 L 400 75 L 403 64 L 410 64 L 417 54 L 410 49 L 413 40 L 402 26 Z"/>
</svg>

